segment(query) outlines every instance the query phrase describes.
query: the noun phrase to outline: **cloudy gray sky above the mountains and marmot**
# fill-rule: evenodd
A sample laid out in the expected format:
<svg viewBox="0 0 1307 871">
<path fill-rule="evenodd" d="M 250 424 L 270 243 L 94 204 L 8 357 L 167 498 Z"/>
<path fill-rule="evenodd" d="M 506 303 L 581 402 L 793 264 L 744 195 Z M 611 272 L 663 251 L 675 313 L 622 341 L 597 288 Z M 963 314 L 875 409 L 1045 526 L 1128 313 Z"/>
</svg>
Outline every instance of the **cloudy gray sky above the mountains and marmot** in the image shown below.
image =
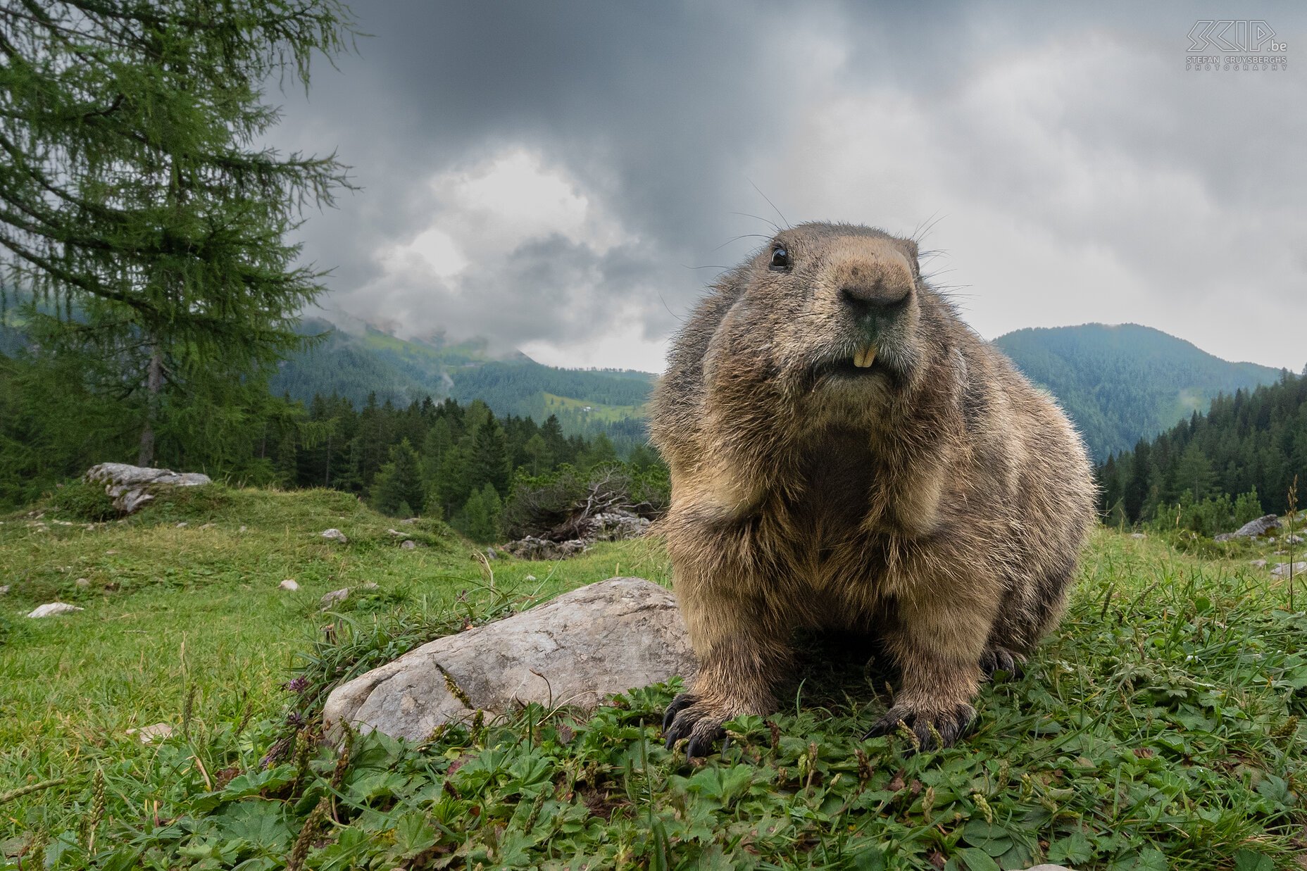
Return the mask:
<svg viewBox="0 0 1307 871">
<path fill-rule="evenodd" d="M 660 370 L 779 211 L 935 221 L 925 269 L 985 337 L 1134 322 L 1307 362 L 1302 5 L 350 5 L 371 35 L 276 135 L 363 188 L 302 229 L 335 313 Z M 1265 21 L 1287 68 L 1187 71 L 1200 20 Z"/>
</svg>

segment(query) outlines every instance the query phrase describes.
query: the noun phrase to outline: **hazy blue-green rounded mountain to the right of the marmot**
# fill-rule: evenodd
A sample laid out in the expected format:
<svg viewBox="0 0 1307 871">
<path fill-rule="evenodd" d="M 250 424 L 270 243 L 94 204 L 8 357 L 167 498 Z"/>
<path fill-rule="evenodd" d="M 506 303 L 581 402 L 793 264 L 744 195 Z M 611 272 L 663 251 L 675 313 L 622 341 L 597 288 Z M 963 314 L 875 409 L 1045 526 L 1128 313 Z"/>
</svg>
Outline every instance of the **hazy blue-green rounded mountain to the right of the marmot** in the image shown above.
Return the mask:
<svg viewBox="0 0 1307 871">
<path fill-rule="evenodd" d="M 1218 394 L 1281 377 L 1133 323 L 1017 330 L 993 344 L 1057 398 L 1098 462 L 1205 411 Z"/>
</svg>

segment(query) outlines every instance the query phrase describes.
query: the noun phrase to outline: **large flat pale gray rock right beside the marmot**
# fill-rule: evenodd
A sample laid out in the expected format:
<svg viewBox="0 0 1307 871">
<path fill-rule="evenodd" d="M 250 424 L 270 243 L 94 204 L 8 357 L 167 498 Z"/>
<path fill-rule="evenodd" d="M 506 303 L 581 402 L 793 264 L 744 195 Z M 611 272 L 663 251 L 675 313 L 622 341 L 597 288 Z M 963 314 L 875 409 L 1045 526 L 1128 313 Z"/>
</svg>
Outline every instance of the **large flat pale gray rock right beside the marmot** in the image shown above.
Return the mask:
<svg viewBox="0 0 1307 871">
<path fill-rule="evenodd" d="M 610 578 L 437 638 L 341 684 L 327 698 L 323 722 L 421 740 L 440 723 L 471 718 L 474 709 L 503 714 L 527 702 L 595 708 L 612 693 L 673 675 L 690 677 L 695 668 L 672 592 L 642 578 Z"/>
</svg>

